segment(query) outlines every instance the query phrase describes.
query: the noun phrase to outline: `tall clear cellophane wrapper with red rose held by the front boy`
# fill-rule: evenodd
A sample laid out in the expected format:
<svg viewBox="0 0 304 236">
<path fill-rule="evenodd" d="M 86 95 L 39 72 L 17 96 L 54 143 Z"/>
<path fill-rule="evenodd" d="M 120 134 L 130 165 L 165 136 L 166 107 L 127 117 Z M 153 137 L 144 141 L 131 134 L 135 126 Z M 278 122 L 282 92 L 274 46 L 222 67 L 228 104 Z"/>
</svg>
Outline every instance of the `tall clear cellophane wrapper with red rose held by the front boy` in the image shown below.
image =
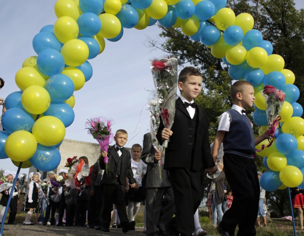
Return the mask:
<svg viewBox="0 0 304 236">
<path fill-rule="evenodd" d="M 178 61 L 176 55 L 163 56 L 150 60 L 150 68 L 157 93 L 161 119 L 164 126 L 171 129 L 174 116 L 177 94 Z M 163 142 L 163 147 L 168 141 Z"/>
</svg>

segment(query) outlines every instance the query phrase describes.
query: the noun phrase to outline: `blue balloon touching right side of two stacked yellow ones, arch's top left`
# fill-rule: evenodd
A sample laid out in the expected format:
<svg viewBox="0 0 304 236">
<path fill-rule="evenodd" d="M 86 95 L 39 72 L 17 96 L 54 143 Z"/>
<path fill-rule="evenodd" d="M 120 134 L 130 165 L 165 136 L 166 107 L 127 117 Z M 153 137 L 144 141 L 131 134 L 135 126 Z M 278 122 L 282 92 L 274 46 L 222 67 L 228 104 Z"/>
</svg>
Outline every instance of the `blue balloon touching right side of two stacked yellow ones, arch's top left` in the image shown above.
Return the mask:
<svg viewBox="0 0 304 236">
<path fill-rule="evenodd" d="M 120 12 L 118 12 L 116 16 L 119 19 L 121 26 L 128 29 L 136 26 L 139 20 L 136 9 L 128 4 L 123 4 Z"/>
</svg>

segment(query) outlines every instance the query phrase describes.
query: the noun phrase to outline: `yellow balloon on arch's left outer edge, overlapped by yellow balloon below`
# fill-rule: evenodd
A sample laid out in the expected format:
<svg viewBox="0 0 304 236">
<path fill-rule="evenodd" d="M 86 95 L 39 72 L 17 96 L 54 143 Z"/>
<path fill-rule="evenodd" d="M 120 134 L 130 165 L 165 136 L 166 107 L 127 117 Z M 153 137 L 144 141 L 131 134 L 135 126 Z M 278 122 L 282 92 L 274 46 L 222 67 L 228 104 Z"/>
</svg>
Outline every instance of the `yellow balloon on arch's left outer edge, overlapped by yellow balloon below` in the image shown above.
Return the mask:
<svg viewBox="0 0 304 236">
<path fill-rule="evenodd" d="M 45 79 L 33 67 L 23 67 L 17 71 L 15 82 L 19 89 L 25 90 L 32 85 L 44 87 Z"/>
</svg>

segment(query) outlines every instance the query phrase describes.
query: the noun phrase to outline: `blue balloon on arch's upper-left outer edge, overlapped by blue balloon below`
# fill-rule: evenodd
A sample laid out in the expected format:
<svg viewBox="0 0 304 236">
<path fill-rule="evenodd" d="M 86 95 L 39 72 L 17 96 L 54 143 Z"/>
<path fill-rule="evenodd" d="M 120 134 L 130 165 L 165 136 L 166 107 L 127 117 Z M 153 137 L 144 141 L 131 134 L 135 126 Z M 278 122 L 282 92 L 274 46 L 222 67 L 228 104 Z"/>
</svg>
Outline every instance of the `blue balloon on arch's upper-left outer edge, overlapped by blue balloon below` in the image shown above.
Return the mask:
<svg viewBox="0 0 304 236">
<path fill-rule="evenodd" d="M 45 49 L 55 49 L 56 51 L 61 51 L 61 44 L 57 40 L 54 34 L 49 32 L 37 33 L 33 38 L 33 49 L 39 54 Z"/>
</svg>

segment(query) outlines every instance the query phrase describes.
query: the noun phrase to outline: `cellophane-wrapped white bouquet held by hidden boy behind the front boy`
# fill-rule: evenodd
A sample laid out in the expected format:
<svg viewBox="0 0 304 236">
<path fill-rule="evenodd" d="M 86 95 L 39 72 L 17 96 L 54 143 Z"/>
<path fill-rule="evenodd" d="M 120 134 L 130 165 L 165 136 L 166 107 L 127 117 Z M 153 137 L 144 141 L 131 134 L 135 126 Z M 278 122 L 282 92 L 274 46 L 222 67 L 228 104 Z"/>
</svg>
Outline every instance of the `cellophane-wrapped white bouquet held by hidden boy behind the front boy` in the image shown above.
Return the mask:
<svg viewBox="0 0 304 236">
<path fill-rule="evenodd" d="M 149 112 L 149 118 L 150 118 L 152 145 L 156 151 L 162 151 L 163 147 L 161 145 L 159 145 L 159 142 L 156 137 L 157 129 L 158 129 L 159 123 L 160 123 L 160 110 L 158 107 L 157 99 L 154 99 L 154 100 L 151 100 L 148 102 L 148 112 Z M 164 155 L 162 155 L 161 160 L 158 161 L 160 178 L 162 178 L 161 167 L 164 163 L 163 157 L 164 157 Z"/>
</svg>

